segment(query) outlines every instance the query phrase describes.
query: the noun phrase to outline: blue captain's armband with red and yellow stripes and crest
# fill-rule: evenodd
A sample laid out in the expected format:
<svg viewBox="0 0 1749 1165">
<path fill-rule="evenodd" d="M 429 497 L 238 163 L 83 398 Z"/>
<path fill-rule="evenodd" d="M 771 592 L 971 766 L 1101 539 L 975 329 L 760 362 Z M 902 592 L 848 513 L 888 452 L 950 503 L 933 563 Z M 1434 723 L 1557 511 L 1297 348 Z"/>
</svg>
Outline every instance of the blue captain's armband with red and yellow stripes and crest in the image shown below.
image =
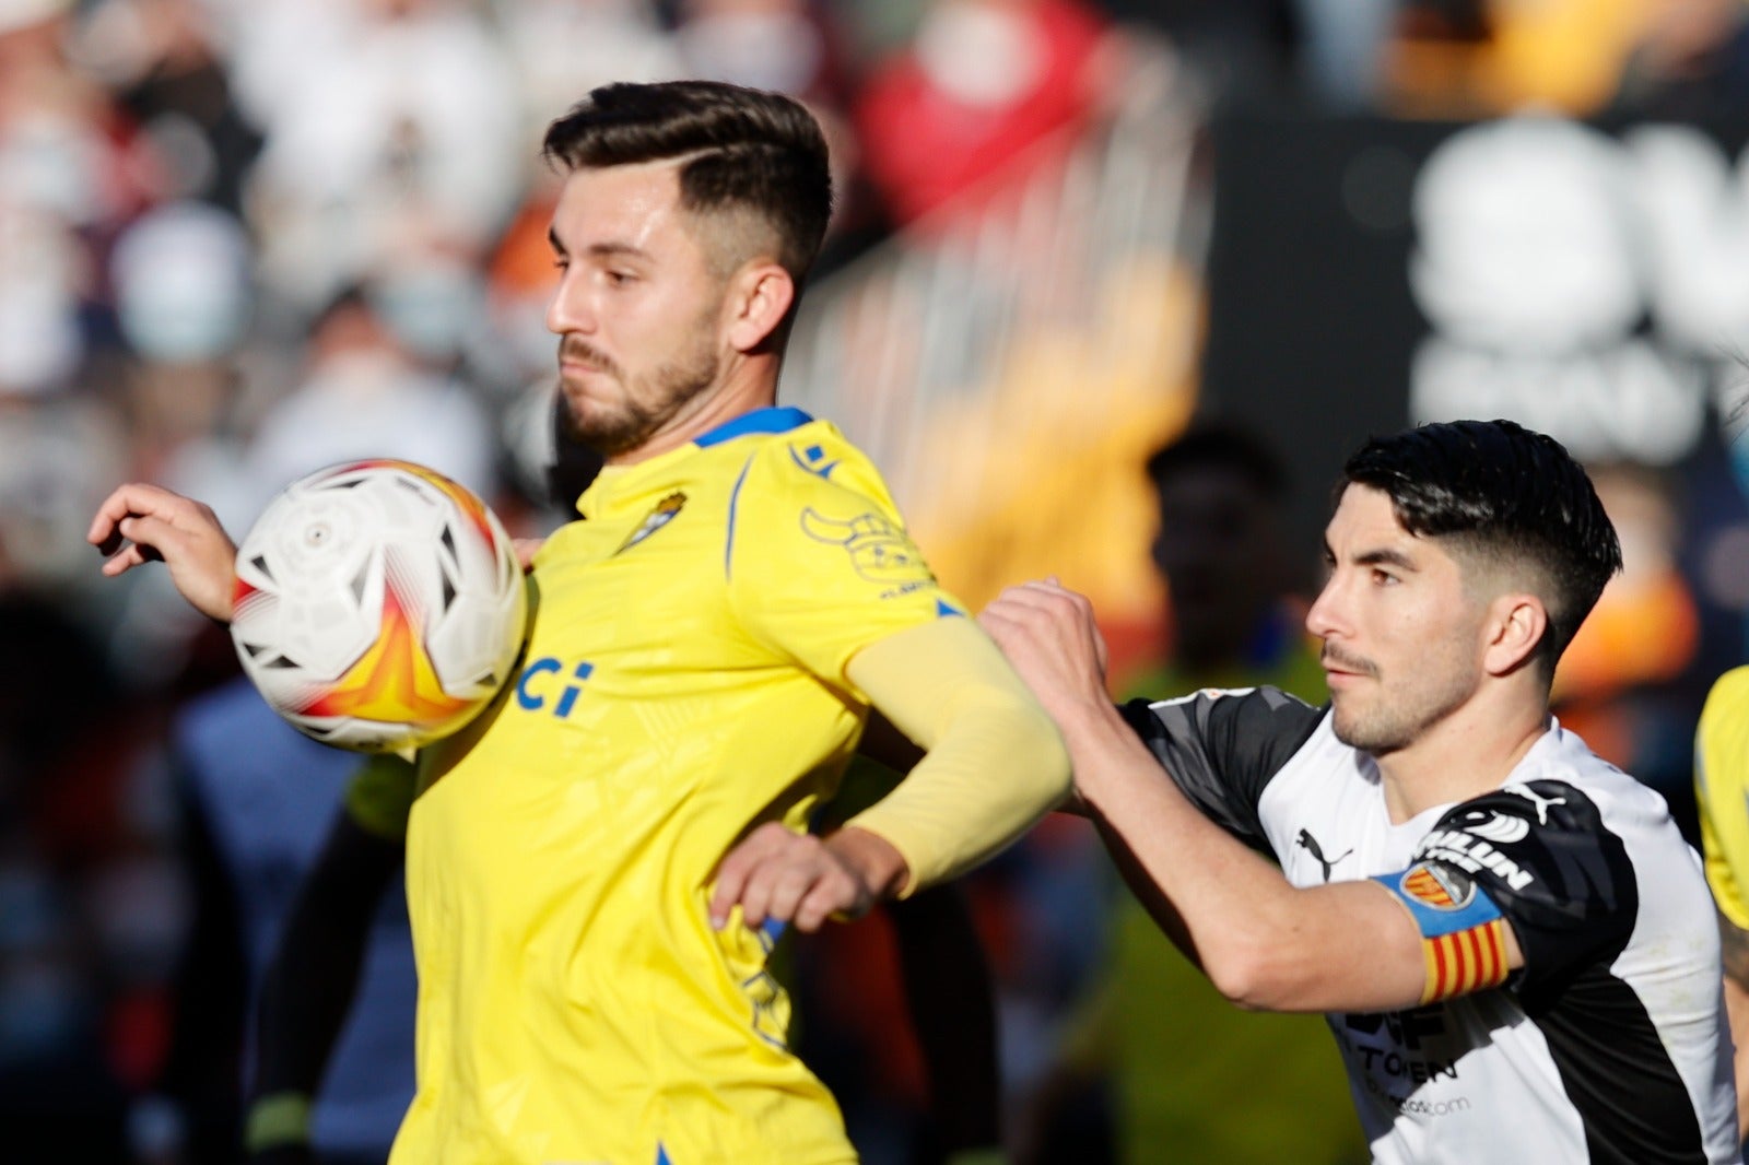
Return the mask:
<svg viewBox="0 0 1749 1165">
<path fill-rule="evenodd" d="M 1506 981 L 1511 973 L 1506 918 L 1473 880 L 1448 866 L 1415 862 L 1403 873 L 1380 875 L 1373 882 L 1408 906 L 1420 931 L 1427 966 L 1424 1004 Z"/>
</svg>

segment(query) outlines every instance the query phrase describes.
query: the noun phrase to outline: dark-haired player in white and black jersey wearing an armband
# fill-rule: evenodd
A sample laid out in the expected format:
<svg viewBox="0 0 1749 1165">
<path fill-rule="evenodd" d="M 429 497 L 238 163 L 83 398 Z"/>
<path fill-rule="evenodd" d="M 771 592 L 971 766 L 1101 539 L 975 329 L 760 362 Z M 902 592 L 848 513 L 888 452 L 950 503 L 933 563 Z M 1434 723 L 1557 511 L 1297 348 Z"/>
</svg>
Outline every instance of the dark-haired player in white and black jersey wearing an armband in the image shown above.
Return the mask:
<svg viewBox="0 0 1749 1165">
<path fill-rule="evenodd" d="M 1114 708 L 1055 582 L 985 626 L 1160 925 L 1240 1006 L 1326 1013 L 1375 1162 L 1739 1162 L 1697 855 L 1550 714 L 1621 565 L 1590 479 L 1509 422 L 1371 441 L 1345 478 L 1307 617 L 1324 708 Z"/>
</svg>

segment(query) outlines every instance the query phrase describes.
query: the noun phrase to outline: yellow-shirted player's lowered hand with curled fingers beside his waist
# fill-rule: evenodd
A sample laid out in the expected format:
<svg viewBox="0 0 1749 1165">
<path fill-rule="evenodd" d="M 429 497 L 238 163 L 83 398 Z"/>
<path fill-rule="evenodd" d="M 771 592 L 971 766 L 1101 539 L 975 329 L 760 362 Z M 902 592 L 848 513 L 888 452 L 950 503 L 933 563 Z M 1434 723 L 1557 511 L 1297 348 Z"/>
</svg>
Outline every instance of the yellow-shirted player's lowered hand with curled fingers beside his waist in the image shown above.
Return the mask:
<svg viewBox="0 0 1749 1165">
<path fill-rule="evenodd" d="M 742 922 L 766 920 L 819 931 L 838 915 L 857 918 L 904 885 L 906 864 L 890 843 L 866 829 L 840 829 L 831 838 L 766 822 L 742 840 L 717 868 L 710 925 L 722 929 L 735 906 Z"/>
</svg>

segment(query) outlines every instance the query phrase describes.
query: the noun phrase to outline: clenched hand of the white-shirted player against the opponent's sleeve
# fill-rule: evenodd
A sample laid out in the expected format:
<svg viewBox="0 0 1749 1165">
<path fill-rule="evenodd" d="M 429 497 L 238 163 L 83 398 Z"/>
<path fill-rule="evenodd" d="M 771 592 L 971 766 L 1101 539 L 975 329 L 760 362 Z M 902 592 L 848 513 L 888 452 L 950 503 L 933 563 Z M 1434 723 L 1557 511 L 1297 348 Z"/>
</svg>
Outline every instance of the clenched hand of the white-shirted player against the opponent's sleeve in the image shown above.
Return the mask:
<svg viewBox="0 0 1749 1165">
<path fill-rule="evenodd" d="M 1091 707 L 1109 707 L 1105 638 L 1086 595 L 1056 579 L 1021 582 L 978 614 L 1007 661 L 1060 724 Z"/>
</svg>

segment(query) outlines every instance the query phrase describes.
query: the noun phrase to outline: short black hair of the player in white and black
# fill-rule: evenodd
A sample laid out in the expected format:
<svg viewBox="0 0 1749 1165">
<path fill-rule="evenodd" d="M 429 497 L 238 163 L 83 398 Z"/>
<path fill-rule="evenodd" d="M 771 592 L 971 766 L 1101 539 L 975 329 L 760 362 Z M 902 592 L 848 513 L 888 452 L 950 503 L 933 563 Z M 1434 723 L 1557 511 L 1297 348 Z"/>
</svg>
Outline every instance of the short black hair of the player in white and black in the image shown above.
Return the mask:
<svg viewBox="0 0 1749 1165">
<path fill-rule="evenodd" d="M 1537 644 L 1544 675 L 1621 570 L 1621 544 L 1590 476 L 1558 441 L 1509 420 L 1375 437 L 1348 458 L 1343 478 L 1389 495 L 1410 534 L 1541 572 L 1550 588 Z"/>
</svg>

